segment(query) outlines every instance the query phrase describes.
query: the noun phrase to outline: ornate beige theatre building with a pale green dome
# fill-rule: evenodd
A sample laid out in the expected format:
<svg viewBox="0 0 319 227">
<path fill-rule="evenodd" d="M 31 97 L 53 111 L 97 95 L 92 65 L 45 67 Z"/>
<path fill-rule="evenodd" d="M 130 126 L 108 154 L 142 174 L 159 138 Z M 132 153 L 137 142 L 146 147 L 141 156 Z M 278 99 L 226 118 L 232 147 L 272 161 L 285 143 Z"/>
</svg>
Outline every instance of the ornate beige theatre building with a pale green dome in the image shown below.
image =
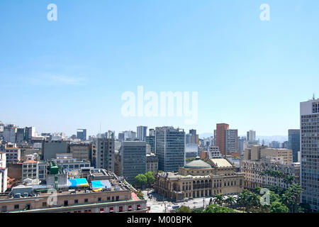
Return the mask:
<svg viewBox="0 0 319 227">
<path fill-rule="evenodd" d="M 224 158 L 196 160 L 179 168 L 179 172 L 162 172 L 155 179 L 155 192 L 172 201 L 186 198 L 238 194 L 242 192 L 244 175 Z"/>
</svg>

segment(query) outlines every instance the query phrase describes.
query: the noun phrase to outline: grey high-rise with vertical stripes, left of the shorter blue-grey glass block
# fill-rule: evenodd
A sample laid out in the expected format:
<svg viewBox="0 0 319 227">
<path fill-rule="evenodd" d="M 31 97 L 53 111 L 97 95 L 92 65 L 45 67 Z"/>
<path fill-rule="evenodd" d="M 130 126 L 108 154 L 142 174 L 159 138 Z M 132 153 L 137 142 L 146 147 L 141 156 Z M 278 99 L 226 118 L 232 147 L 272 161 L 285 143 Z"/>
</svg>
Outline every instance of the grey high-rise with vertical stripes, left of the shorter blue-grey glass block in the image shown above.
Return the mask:
<svg viewBox="0 0 319 227">
<path fill-rule="evenodd" d="M 114 172 L 114 153 L 114 138 L 98 138 L 96 141 L 96 168 Z"/>
</svg>

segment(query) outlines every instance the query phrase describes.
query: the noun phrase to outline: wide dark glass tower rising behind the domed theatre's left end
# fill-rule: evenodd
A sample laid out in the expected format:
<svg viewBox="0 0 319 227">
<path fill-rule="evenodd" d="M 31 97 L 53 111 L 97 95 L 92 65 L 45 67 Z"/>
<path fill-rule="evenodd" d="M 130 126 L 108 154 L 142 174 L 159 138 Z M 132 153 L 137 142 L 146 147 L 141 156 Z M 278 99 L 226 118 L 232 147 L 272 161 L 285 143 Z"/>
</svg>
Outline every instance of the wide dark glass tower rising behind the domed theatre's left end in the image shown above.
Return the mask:
<svg viewBox="0 0 319 227">
<path fill-rule="evenodd" d="M 158 168 L 165 172 L 178 171 L 185 164 L 185 132 L 179 128 L 158 127 L 155 131 L 155 153 Z"/>
</svg>

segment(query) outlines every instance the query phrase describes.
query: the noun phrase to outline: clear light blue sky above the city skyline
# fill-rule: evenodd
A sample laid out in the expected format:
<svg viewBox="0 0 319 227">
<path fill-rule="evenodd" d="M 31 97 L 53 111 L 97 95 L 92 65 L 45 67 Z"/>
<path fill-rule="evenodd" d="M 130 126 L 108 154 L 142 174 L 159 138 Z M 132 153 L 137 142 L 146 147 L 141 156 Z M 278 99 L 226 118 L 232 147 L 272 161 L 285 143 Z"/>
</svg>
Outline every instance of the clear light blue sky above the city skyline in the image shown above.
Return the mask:
<svg viewBox="0 0 319 227">
<path fill-rule="evenodd" d="M 319 96 L 318 11 L 317 0 L 0 1 L 0 121 L 68 135 L 100 123 L 286 135 L 299 102 Z M 198 122 L 123 117 L 121 95 L 139 85 L 198 92 Z"/>
</svg>

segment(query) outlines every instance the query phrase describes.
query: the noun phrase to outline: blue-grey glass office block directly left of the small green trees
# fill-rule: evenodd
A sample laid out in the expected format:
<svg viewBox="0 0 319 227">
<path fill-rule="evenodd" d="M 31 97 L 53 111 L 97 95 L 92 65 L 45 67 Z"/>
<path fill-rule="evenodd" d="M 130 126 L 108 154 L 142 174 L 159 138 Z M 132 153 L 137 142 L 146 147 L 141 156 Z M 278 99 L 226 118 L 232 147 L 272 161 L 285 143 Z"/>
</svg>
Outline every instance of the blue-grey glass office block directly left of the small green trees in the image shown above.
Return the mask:
<svg viewBox="0 0 319 227">
<path fill-rule="evenodd" d="M 123 141 L 121 145 L 121 175 L 130 184 L 135 177 L 146 172 L 146 143 Z"/>
</svg>

